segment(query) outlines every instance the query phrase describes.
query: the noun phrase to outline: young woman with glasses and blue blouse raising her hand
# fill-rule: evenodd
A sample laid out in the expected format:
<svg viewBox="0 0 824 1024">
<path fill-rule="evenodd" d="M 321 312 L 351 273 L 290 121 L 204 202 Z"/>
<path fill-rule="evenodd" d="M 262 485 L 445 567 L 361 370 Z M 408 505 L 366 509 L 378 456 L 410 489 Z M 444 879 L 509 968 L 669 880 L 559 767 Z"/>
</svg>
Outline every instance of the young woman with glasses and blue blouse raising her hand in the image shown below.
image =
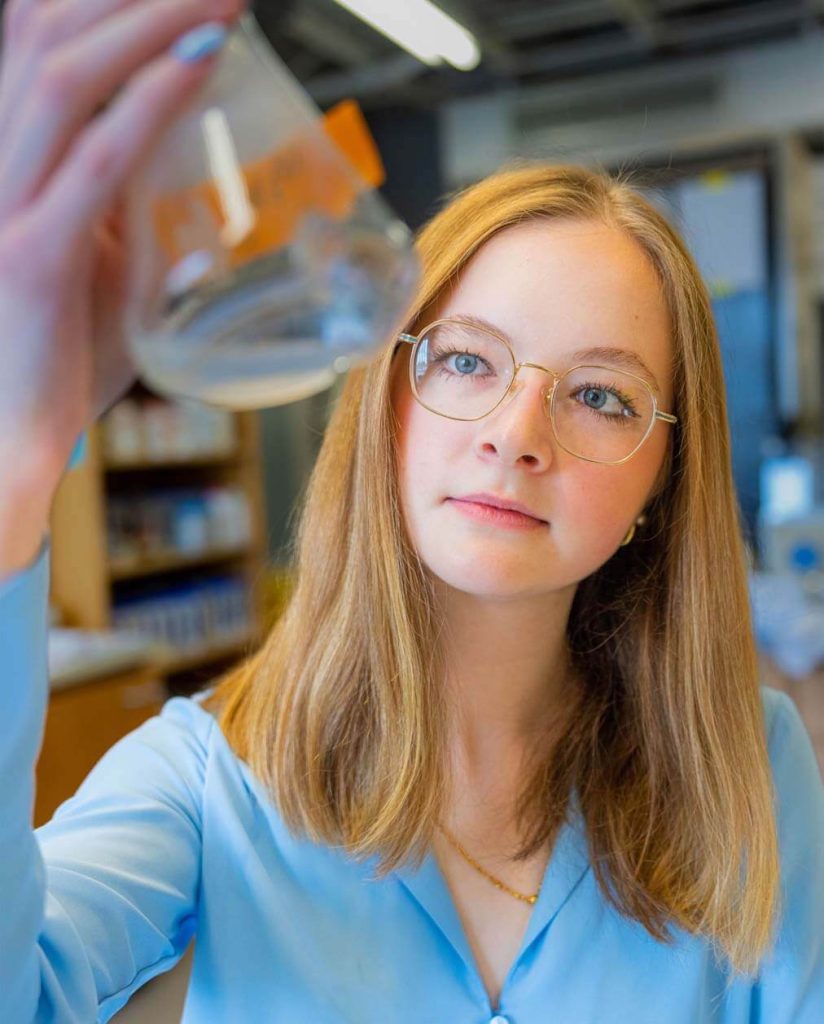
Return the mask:
<svg viewBox="0 0 824 1024">
<path fill-rule="evenodd" d="M 758 687 L 706 292 L 648 203 L 581 168 L 502 172 L 427 225 L 267 642 L 32 831 L 48 507 L 129 379 L 96 274 L 205 67 L 161 55 L 194 4 L 82 4 L 8 19 L 52 51 L 3 93 L 2 1019 L 107 1020 L 196 936 L 192 1022 L 820 1021 L 824 794 Z M 44 99 L 81 52 L 85 91 Z M 27 75 L 37 133 L 8 98 Z"/>
</svg>

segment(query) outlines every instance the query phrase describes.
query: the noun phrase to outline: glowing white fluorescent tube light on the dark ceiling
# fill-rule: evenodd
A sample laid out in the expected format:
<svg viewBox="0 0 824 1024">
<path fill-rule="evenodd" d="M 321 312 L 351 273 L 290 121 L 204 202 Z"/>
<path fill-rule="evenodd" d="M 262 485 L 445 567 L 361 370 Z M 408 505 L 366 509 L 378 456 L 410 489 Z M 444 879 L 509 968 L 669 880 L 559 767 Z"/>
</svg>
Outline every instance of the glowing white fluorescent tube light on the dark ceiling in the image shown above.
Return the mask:
<svg viewBox="0 0 824 1024">
<path fill-rule="evenodd" d="M 461 71 L 472 71 L 480 62 L 480 47 L 472 33 L 430 0 L 337 0 L 337 3 L 424 63 L 447 60 Z"/>
</svg>

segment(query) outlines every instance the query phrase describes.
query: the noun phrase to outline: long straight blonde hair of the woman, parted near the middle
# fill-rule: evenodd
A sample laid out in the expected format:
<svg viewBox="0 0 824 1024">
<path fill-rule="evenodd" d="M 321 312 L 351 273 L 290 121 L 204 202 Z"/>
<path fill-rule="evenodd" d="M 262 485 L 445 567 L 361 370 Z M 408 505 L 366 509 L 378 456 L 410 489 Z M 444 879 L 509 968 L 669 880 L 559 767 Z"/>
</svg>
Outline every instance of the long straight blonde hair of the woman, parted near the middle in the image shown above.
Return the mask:
<svg viewBox="0 0 824 1024">
<path fill-rule="evenodd" d="M 659 941 L 675 925 L 751 974 L 778 910 L 778 844 L 724 376 L 692 258 L 626 181 L 519 164 L 423 228 L 408 324 L 487 239 L 535 217 L 597 219 L 646 252 L 679 423 L 643 536 L 576 591 L 582 691 L 525 780 L 519 856 L 554 840 L 574 791 L 604 897 Z M 390 345 L 350 372 L 304 497 L 290 602 L 205 705 L 295 834 L 378 854 L 379 873 L 424 856 L 447 765 L 432 582 L 400 513 L 392 358 Z"/>
</svg>

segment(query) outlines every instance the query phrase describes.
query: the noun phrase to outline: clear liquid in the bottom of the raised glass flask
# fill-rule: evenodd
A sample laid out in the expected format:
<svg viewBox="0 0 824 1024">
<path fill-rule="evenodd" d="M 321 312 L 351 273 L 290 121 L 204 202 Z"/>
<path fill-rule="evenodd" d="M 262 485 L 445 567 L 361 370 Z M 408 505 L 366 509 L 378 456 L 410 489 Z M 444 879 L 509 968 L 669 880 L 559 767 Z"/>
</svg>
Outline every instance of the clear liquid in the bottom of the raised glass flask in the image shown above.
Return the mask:
<svg viewBox="0 0 824 1024">
<path fill-rule="evenodd" d="M 293 246 L 215 284 L 207 274 L 170 298 L 158 327 L 133 331 L 141 376 L 158 391 L 236 410 L 324 390 L 397 326 L 398 296 L 418 272 L 399 241 L 315 220 Z"/>
</svg>

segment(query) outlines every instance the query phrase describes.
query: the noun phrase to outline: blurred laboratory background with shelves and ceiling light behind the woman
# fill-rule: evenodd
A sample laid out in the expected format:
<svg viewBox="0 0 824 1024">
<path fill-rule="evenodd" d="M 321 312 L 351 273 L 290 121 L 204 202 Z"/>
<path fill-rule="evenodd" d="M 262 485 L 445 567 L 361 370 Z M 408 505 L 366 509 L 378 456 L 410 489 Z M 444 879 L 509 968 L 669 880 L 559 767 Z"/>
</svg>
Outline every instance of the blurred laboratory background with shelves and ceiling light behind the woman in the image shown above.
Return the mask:
<svg viewBox="0 0 824 1024">
<path fill-rule="evenodd" d="M 711 290 L 764 681 L 824 763 L 824 2 L 266 0 L 318 109 L 360 106 L 416 229 L 516 157 L 630 174 Z M 230 413 L 137 384 L 52 522 L 46 820 L 163 701 L 257 645 L 339 386 Z"/>
</svg>

